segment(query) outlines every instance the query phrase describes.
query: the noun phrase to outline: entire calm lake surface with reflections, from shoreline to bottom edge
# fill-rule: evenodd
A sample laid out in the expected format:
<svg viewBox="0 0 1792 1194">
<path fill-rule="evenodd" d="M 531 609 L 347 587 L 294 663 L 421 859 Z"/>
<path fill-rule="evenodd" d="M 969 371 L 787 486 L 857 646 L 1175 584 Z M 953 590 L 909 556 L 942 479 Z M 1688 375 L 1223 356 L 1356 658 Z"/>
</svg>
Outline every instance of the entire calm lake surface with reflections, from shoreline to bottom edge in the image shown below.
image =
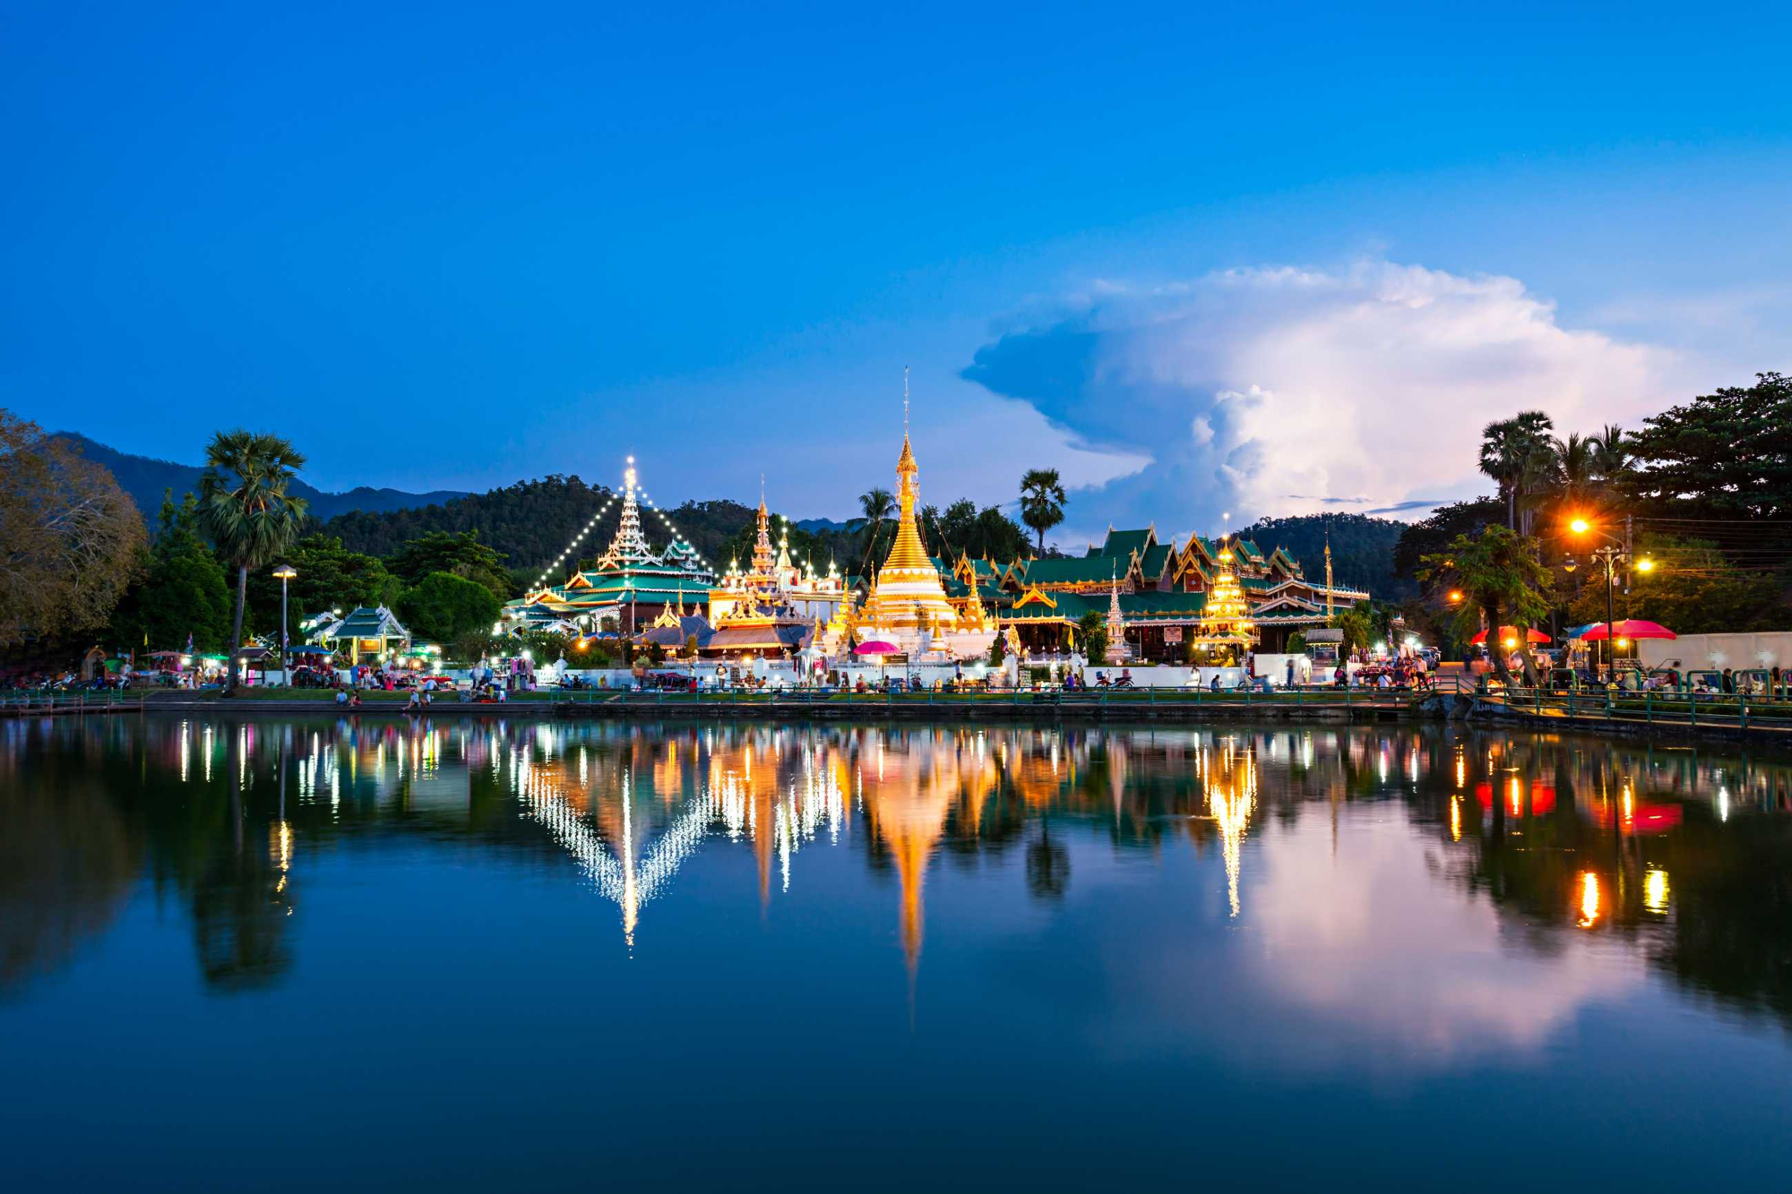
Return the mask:
<svg viewBox="0 0 1792 1194">
<path fill-rule="evenodd" d="M 11 1189 L 1785 1189 L 1792 770 L 0 723 Z"/>
</svg>

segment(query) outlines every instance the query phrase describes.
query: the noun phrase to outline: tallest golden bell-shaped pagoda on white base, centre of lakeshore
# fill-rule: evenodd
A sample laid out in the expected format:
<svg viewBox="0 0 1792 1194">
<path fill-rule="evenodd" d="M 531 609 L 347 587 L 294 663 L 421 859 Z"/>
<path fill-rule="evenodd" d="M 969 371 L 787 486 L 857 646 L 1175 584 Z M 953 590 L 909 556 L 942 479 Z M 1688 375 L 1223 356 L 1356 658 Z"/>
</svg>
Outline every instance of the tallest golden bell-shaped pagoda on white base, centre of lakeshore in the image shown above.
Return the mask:
<svg viewBox="0 0 1792 1194">
<path fill-rule="evenodd" d="M 909 444 L 907 417 L 903 422 L 901 456 L 896 460 L 900 503 L 896 542 L 891 544 L 891 553 L 871 582 L 855 630 L 862 643 L 885 641 L 912 655 L 937 652 L 969 659 L 989 650 L 995 623 L 980 601 L 969 601 L 962 612 L 953 607 L 946 598 L 939 567 L 926 555 L 921 528 L 916 525 L 921 467 L 914 462 L 914 448 Z"/>
</svg>

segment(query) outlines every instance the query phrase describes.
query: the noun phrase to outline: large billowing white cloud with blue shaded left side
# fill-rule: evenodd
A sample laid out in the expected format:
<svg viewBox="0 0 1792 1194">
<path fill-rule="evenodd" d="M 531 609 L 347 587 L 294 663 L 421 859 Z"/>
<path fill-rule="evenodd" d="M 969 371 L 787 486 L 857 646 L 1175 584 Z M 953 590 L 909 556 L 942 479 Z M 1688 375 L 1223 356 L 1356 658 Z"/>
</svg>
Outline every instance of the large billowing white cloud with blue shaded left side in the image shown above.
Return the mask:
<svg viewBox="0 0 1792 1194">
<path fill-rule="evenodd" d="M 1690 372 L 1670 349 L 1563 328 L 1518 279 L 1364 261 L 1102 283 L 987 344 L 966 378 L 1077 444 L 1150 456 L 1084 496 L 1084 514 L 1211 528 L 1228 508 L 1468 496 L 1486 489 L 1487 421 L 1541 408 L 1563 430 L 1634 426 L 1693 392 Z"/>
</svg>

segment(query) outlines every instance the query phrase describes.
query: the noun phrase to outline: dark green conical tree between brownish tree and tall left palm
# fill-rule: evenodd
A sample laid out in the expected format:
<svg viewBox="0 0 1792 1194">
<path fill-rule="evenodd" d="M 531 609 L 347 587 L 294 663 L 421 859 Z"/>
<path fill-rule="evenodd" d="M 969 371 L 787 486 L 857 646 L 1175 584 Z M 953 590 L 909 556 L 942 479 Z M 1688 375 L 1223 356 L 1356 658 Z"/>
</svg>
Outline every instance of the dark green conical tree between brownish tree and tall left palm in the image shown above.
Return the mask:
<svg viewBox="0 0 1792 1194">
<path fill-rule="evenodd" d="M 109 637 L 120 646 L 217 652 L 229 646 L 229 576 L 199 537 L 199 501 L 174 505 L 165 492 L 156 539 L 143 551 L 143 576 L 113 612 Z"/>
</svg>

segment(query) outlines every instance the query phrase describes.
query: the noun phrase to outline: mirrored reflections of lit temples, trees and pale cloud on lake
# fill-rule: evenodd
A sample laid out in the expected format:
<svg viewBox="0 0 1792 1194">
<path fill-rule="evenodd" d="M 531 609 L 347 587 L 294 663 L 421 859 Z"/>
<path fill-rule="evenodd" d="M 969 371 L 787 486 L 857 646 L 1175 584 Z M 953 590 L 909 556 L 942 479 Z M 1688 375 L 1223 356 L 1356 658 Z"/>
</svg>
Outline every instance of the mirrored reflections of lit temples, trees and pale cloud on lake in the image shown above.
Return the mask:
<svg viewBox="0 0 1792 1194">
<path fill-rule="evenodd" d="M 0 990 L 104 940 L 133 890 L 185 908 L 210 990 L 265 990 L 305 965 L 312 859 L 418 841 L 564 866 L 584 888 L 568 899 L 613 908 L 625 949 L 656 933 L 658 900 L 702 883 L 694 868 L 738 852 L 762 908 L 810 881 L 817 850 L 862 859 L 873 891 L 889 875 L 910 979 L 941 866 L 991 908 L 1012 890 L 1045 915 L 1084 872 L 1102 888 L 1143 866 L 1165 881 L 1125 897 L 1150 902 L 1140 942 L 1152 924 L 1251 931 L 1215 947 L 1240 951 L 1224 977 L 1150 977 L 1111 947 L 1161 1015 L 1201 988 L 1210 1011 L 1279 1001 L 1412 1049 L 1536 1044 L 1631 981 L 1586 952 L 1604 942 L 1792 1022 L 1788 793 L 1785 764 L 1733 752 L 1432 727 L 13 721 Z M 1546 967 L 1512 968 L 1512 949 Z"/>
</svg>

